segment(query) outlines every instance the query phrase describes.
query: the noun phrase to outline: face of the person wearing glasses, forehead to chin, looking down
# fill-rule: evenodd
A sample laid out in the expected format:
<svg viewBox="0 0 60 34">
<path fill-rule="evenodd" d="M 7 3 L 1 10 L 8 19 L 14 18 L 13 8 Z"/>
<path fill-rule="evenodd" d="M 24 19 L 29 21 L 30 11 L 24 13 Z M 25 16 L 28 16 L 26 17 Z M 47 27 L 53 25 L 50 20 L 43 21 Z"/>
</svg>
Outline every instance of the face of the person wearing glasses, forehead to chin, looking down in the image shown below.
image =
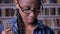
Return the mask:
<svg viewBox="0 0 60 34">
<path fill-rule="evenodd" d="M 23 21 L 32 23 L 39 14 L 40 5 L 36 0 L 18 0 L 19 13 Z"/>
</svg>

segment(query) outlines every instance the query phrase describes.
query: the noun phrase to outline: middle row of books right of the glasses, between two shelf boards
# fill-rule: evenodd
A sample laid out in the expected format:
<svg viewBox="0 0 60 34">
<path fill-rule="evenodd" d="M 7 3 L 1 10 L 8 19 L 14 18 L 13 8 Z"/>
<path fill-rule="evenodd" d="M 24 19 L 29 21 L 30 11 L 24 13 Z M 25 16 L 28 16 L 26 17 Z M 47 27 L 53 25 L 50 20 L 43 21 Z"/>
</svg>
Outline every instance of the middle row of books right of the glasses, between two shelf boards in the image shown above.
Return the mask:
<svg viewBox="0 0 60 34">
<path fill-rule="evenodd" d="M 40 15 L 60 15 L 60 8 L 44 8 Z"/>
</svg>

